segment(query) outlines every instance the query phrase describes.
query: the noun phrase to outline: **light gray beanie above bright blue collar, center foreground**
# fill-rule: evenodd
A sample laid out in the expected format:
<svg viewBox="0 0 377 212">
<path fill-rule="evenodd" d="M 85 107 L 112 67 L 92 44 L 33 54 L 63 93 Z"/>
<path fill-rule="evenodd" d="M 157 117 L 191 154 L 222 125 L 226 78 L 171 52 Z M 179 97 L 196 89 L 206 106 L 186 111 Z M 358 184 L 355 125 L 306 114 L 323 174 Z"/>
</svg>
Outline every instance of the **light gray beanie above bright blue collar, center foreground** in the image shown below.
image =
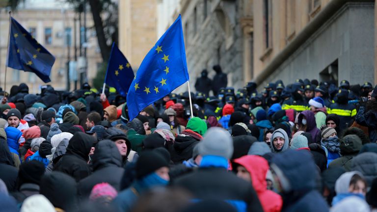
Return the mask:
<svg viewBox="0 0 377 212">
<path fill-rule="evenodd" d="M 230 159 L 233 155 L 233 140 L 222 128 L 212 127 L 198 144 L 199 155 L 220 156 Z"/>
</svg>

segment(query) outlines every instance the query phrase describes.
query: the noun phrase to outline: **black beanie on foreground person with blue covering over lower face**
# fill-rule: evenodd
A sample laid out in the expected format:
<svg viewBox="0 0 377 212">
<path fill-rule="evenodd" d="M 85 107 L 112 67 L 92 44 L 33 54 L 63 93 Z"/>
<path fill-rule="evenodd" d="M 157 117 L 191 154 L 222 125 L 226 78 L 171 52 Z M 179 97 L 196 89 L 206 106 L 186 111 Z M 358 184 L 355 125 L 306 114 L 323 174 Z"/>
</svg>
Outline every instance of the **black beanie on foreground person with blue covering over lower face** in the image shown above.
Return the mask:
<svg viewBox="0 0 377 212">
<path fill-rule="evenodd" d="M 156 151 L 144 151 L 136 161 L 136 179 L 142 179 L 164 166 L 168 167 L 169 163 L 161 153 Z"/>
</svg>

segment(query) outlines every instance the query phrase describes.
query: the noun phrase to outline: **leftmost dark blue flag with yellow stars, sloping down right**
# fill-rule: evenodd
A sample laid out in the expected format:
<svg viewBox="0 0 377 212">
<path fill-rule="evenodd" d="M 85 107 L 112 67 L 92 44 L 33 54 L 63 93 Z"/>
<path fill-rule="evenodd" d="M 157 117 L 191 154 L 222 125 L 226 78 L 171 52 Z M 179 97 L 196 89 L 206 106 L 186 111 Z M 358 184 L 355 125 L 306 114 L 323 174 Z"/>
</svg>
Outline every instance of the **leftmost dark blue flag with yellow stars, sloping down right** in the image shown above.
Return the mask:
<svg viewBox="0 0 377 212">
<path fill-rule="evenodd" d="M 35 40 L 15 19 L 11 18 L 8 58 L 10 68 L 35 73 L 45 83 L 50 82 L 50 72 L 55 57 Z"/>
</svg>

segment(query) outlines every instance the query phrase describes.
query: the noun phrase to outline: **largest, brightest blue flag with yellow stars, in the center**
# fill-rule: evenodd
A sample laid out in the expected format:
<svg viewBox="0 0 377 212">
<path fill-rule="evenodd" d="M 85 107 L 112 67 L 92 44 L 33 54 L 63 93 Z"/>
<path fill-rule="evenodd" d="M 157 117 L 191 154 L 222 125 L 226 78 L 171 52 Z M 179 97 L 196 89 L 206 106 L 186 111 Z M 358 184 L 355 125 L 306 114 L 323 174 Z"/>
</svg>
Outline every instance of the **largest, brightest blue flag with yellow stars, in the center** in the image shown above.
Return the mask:
<svg viewBox="0 0 377 212">
<path fill-rule="evenodd" d="M 146 106 L 187 82 L 188 70 L 181 15 L 141 62 L 127 94 L 130 120 Z"/>
</svg>

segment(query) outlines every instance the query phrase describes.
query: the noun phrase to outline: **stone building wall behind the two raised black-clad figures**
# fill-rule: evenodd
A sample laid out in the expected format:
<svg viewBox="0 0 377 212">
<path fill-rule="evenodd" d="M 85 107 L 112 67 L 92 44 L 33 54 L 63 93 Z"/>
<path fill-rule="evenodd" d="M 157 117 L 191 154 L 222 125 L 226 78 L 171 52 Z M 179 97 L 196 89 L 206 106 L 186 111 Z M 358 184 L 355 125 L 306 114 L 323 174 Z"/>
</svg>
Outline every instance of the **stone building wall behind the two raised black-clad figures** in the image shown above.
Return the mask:
<svg viewBox="0 0 377 212">
<path fill-rule="evenodd" d="M 182 15 L 186 57 L 191 89 L 203 69 L 209 77 L 215 75 L 212 67 L 219 64 L 228 75 L 228 86 L 243 87 L 250 73 L 250 63 L 244 63 L 244 42 L 251 36 L 252 0 L 182 0 Z M 207 9 L 205 9 L 207 8 Z M 247 24 L 249 23 L 249 24 Z M 247 29 L 245 29 L 247 27 Z M 247 37 L 245 37 L 247 36 Z M 244 66 L 246 65 L 246 66 Z M 214 82 L 216 83 L 216 82 Z M 186 86 L 181 91 L 186 90 Z"/>
</svg>

